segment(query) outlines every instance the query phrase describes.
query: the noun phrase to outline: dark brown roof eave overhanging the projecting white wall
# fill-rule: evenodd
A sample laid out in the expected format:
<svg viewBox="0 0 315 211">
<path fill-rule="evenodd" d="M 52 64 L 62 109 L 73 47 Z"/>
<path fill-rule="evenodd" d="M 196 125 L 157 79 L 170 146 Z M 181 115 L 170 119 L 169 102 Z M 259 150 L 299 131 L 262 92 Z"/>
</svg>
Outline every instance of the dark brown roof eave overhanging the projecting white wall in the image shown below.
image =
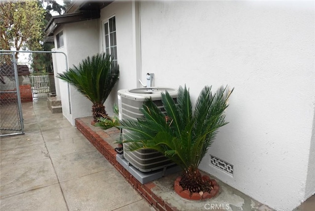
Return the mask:
<svg viewBox="0 0 315 211">
<path fill-rule="evenodd" d="M 100 17 L 100 9 L 104 8 L 114 0 L 103 1 L 89 1 L 89 0 L 76 0 L 69 9 L 63 15 L 53 16 L 44 32 L 45 40 L 49 40 L 48 37 L 54 35 L 54 31 L 66 23 L 75 23 L 79 21 L 92 20 Z"/>
</svg>

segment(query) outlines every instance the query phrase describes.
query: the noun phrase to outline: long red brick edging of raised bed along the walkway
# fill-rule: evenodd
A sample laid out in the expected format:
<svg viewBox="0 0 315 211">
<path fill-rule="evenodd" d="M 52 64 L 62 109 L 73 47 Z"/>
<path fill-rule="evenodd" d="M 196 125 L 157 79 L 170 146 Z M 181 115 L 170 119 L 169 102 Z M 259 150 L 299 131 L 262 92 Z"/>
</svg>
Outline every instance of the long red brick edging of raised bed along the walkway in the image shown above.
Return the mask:
<svg viewBox="0 0 315 211">
<path fill-rule="evenodd" d="M 159 196 L 154 194 L 151 189 L 156 186 L 153 182 L 141 184 L 134 176 L 132 176 L 119 162 L 116 161 L 116 151 L 104 139 L 110 137 L 112 133 L 120 133 L 120 130 L 110 131 L 102 134 L 93 131 L 89 125 L 86 125 L 80 118 L 75 119 L 77 129 L 95 146 L 95 148 L 126 178 L 132 187 L 149 204 L 159 211 L 175 211 L 168 203 L 163 201 Z"/>
</svg>

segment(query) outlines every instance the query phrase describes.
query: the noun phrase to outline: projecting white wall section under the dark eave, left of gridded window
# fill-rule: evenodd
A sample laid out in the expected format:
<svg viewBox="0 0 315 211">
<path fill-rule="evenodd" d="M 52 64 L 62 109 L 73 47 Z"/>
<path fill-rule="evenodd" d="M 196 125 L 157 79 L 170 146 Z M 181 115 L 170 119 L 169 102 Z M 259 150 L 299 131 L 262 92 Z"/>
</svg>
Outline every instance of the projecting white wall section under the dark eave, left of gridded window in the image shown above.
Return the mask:
<svg viewBox="0 0 315 211">
<path fill-rule="evenodd" d="M 78 65 L 83 59 L 88 56 L 93 56 L 99 52 L 98 45 L 98 20 L 81 21 L 77 23 L 66 24 L 59 31 L 56 31 L 56 35 L 63 30 L 64 46 L 57 49 L 67 55 L 68 68 L 73 68 L 73 65 Z M 55 40 L 55 43 L 57 41 Z M 62 54 L 56 55 L 57 71 L 65 71 L 64 56 Z M 60 95 L 63 106 L 63 115 L 74 125 L 75 118 L 91 116 L 92 115 L 92 103 L 79 93 L 73 86 L 69 86 L 66 82 L 59 79 Z M 71 104 L 71 114 L 69 109 L 69 96 Z"/>
</svg>

